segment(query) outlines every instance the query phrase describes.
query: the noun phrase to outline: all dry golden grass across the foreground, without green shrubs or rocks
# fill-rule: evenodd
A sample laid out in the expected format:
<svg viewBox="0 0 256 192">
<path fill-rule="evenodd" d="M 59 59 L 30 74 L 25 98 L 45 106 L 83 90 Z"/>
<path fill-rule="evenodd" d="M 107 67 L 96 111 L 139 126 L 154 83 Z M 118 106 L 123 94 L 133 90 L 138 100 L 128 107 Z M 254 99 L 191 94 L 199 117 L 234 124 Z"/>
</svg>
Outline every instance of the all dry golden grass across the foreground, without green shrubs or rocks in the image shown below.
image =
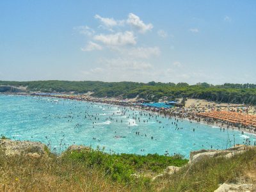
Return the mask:
<svg viewBox="0 0 256 192">
<path fill-rule="evenodd" d="M 214 191 L 223 182 L 255 184 L 255 170 L 256 149 L 252 149 L 230 159 L 202 159 L 150 182 L 148 188 L 140 182 L 113 182 L 96 166 L 74 159 L 7 157 L 0 152 L 0 191 Z"/>
</svg>

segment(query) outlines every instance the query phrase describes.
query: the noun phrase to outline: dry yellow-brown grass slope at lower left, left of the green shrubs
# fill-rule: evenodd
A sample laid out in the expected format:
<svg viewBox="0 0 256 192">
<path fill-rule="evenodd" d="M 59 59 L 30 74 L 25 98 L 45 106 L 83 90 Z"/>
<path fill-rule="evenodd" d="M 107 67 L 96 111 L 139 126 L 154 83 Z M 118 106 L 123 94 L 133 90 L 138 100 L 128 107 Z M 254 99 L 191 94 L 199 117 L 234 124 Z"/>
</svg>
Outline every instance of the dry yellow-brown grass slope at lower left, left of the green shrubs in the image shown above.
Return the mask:
<svg viewBox="0 0 256 192">
<path fill-rule="evenodd" d="M 83 164 L 56 157 L 0 157 L 1 191 L 130 191 Z"/>
</svg>

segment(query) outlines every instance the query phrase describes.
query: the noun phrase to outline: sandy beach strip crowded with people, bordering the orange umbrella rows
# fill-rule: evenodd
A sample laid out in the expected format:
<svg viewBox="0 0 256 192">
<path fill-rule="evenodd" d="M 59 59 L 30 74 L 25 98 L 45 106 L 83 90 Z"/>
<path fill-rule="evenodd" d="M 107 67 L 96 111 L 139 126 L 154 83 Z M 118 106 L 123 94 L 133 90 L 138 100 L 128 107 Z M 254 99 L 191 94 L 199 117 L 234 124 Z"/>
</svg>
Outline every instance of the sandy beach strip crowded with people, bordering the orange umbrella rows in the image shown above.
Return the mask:
<svg viewBox="0 0 256 192">
<path fill-rule="evenodd" d="M 254 115 L 256 108 L 255 106 L 245 106 L 243 104 L 228 104 L 228 103 L 216 103 L 209 102 L 207 100 L 198 99 L 188 99 L 185 106 L 175 107 L 175 108 L 154 108 L 149 106 L 143 106 L 141 103 L 136 102 L 134 99 L 118 99 L 118 98 L 98 98 L 92 97 L 92 93 L 87 93 L 85 95 L 51 95 L 51 97 L 58 97 L 63 99 L 76 99 L 85 100 L 90 102 L 99 102 L 105 104 L 114 104 L 117 106 L 129 106 L 134 109 L 142 109 L 146 111 L 151 111 L 156 114 L 164 116 L 177 117 L 179 119 L 188 119 L 193 122 L 202 122 L 204 124 L 211 124 L 222 128 L 237 129 L 243 132 L 256 132 L 256 126 L 244 126 L 240 124 L 230 124 L 230 122 L 225 122 L 218 119 L 206 119 L 200 118 L 200 113 L 211 112 L 211 111 L 237 111 L 237 113 L 251 114 Z M 45 95 L 44 95 L 45 96 Z M 48 95 L 50 96 L 50 95 Z M 202 121 L 201 121 L 202 120 Z"/>
</svg>

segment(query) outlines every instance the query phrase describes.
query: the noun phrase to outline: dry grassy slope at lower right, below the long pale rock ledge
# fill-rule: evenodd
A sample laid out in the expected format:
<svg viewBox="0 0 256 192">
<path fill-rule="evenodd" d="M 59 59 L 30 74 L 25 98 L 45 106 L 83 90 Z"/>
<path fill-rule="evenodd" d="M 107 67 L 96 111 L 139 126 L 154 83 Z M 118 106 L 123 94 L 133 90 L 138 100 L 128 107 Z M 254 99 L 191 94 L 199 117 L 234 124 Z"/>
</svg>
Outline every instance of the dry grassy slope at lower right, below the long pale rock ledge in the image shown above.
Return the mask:
<svg viewBox="0 0 256 192">
<path fill-rule="evenodd" d="M 214 191 L 224 182 L 256 182 L 256 148 L 227 159 L 205 157 L 161 180 L 163 191 Z M 159 186 L 160 187 L 160 186 Z"/>
</svg>

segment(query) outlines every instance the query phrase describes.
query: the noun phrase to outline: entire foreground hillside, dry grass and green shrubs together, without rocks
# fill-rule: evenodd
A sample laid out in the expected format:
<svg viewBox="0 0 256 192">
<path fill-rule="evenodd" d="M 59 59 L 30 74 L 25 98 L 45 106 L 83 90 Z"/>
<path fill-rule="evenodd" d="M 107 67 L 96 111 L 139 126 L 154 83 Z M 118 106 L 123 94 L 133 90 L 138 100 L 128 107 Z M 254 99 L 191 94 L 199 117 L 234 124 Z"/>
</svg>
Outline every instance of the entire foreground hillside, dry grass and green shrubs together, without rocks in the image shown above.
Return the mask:
<svg viewBox="0 0 256 192">
<path fill-rule="evenodd" d="M 150 175 L 169 165 L 182 166 L 179 156 L 109 155 L 99 150 L 69 151 L 61 157 L 0 152 L 0 191 L 214 191 L 223 182 L 256 183 L 256 149 L 230 159 L 207 158 L 171 176 Z M 141 177 L 131 174 L 137 172 Z M 256 187 L 256 186 L 255 186 Z"/>
</svg>

